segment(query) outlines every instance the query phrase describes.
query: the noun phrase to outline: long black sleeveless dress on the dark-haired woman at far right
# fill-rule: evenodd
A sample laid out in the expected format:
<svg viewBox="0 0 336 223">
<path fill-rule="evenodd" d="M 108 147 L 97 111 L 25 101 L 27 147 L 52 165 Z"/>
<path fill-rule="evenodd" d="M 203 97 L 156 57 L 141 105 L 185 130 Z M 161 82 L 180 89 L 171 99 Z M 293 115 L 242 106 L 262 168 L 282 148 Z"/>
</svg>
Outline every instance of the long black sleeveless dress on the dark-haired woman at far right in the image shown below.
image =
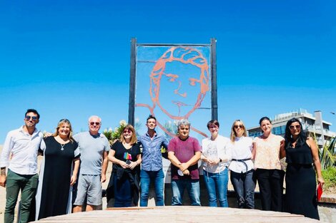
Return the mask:
<svg viewBox="0 0 336 223">
<path fill-rule="evenodd" d="M 304 145 L 286 149 L 285 209 L 292 214 L 320 219 L 317 211 L 316 177 L 312 167 L 312 150 Z"/>
</svg>

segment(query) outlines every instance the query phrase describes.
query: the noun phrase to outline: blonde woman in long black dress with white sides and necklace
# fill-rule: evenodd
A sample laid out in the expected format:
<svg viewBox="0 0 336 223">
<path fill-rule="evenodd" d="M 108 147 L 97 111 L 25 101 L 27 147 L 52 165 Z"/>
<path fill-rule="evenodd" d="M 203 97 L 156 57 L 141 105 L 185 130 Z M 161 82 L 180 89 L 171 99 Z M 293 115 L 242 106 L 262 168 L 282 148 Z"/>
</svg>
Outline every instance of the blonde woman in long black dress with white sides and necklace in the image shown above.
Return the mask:
<svg viewBox="0 0 336 223">
<path fill-rule="evenodd" d="M 44 138 L 44 155 L 36 192 L 35 219 L 71 213 L 71 191 L 79 169 L 79 147 L 72 138 L 71 123 L 62 119 L 56 132 Z"/>
</svg>

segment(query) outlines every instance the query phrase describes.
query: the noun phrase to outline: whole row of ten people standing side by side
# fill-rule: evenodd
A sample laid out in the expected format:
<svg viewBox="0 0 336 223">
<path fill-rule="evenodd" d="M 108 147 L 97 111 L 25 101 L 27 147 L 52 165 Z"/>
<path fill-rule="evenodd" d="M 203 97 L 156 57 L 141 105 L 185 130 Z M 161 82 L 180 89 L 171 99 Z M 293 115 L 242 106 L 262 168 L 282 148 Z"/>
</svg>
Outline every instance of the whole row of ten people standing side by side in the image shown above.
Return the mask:
<svg viewBox="0 0 336 223">
<path fill-rule="evenodd" d="M 102 182 L 107 180 L 109 161 L 113 165 L 107 207 L 146 207 L 151 182 L 155 186 L 155 203 L 163 206 L 162 147 L 167 149 L 172 163 L 172 205 L 182 205 L 185 190 L 192 205 L 201 205 L 198 161 L 202 160 L 209 206 L 217 207 L 218 203 L 228 207 L 230 177 L 238 207 L 254 208 L 257 180 L 262 209 L 319 219 L 315 171 L 321 186 L 324 180 L 318 147 L 312 138 L 306 137 L 300 120 L 295 118 L 288 121 L 285 138 L 272 134 L 270 118 L 261 118 L 263 134 L 255 139 L 247 137 L 242 120 L 234 121 L 229 138 L 219 135 L 217 120 L 210 120 L 210 137 L 202 140 L 202 146 L 189 136 L 188 120 L 179 120 L 177 136 L 168 142 L 157 134 L 157 120 L 149 115 L 147 133 L 137 138 L 134 127 L 126 125 L 120 139 L 110 146 L 99 133 L 102 120 L 96 115 L 89 118 L 87 132 L 72 135 L 71 123 L 62 119 L 56 132 L 47 138 L 35 127 L 39 118 L 36 110 L 27 110 L 25 124 L 6 137 L 0 157 L 0 185 L 6 187 L 4 222 L 13 222 L 20 190 L 19 222 L 28 222 L 29 215 L 41 219 L 69 214 L 71 209 L 80 212 L 83 205 L 87 211 L 97 209 L 102 205 Z M 37 155 L 44 155 L 39 176 Z M 282 157 L 287 160 L 286 174 L 280 163 Z M 34 199 L 35 212 L 31 211 Z"/>
</svg>

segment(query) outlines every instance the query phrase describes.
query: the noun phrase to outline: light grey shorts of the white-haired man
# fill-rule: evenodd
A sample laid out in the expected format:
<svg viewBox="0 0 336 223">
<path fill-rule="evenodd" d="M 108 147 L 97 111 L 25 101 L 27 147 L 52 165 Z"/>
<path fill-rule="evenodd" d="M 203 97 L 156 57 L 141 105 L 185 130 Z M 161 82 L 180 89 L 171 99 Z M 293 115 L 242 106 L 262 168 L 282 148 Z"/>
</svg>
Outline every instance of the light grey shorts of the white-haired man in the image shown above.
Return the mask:
<svg viewBox="0 0 336 223">
<path fill-rule="evenodd" d="M 100 180 L 100 175 L 79 175 L 74 205 L 83 205 L 86 196 L 87 204 L 102 205 L 102 182 Z"/>
</svg>

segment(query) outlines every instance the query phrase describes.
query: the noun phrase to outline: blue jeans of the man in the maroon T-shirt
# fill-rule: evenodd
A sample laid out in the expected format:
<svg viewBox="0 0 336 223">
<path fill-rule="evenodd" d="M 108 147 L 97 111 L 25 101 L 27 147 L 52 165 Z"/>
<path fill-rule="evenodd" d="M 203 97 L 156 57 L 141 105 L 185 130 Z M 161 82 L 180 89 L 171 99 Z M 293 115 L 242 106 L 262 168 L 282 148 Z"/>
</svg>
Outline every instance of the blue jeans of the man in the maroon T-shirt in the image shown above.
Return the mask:
<svg viewBox="0 0 336 223">
<path fill-rule="evenodd" d="M 199 180 L 179 179 L 172 180 L 172 205 L 182 205 L 184 190 L 187 189 L 192 206 L 201 206 L 199 200 Z"/>
</svg>

